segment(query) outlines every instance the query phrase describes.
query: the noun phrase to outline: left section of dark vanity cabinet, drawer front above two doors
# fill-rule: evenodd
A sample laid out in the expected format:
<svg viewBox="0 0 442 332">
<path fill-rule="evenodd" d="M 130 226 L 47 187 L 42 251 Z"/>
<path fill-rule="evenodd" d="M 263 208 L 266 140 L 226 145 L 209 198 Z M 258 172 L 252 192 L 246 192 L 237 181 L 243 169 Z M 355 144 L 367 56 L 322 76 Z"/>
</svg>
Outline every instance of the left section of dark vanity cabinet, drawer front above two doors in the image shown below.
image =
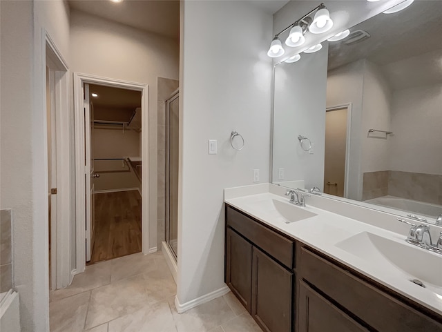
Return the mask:
<svg viewBox="0 0 442 332">
<path fill-rule="evenodd" d="M 225 249 L 225 282 L 261 329 L 294 331 L 294 240 L 229 207 Z"/>
</svg>

